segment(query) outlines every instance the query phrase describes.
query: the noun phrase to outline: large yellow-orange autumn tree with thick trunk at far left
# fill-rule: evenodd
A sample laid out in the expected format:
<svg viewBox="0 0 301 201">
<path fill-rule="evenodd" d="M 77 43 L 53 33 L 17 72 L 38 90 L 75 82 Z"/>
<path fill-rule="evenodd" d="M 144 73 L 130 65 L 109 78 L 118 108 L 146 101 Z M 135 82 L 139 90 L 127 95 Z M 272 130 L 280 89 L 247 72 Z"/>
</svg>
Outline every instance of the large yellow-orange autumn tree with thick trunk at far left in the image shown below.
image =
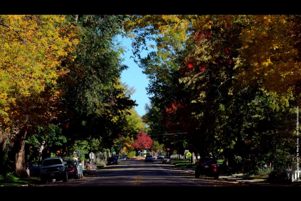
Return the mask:
<svg viewBox="0 0 301 201">
<path fill-rule="evenodd" d="M 77 29 L 59 15 L 0 16 L 0 160 L 8 136 L 15 170 L 26 177 L 24 141 L 36 125 L 45 125 L 60 112 L 64 93 L 58 83 L 68 70 L 78 43 Z"/>
</svg>

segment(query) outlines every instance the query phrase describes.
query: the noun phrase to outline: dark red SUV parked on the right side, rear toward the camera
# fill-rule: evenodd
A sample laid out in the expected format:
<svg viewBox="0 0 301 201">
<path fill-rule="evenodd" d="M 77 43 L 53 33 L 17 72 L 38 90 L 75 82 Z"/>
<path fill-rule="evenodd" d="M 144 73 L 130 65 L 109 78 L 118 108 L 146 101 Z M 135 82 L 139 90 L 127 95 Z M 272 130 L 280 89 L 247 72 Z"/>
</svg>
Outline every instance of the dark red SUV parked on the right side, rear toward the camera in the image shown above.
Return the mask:
<svg viewBox="0 0 301 201">
<path fill-rule="evenodd" d="M 217 162 L 212 157 L 201 157 L 195 166 L 195 177 L 198 178 L 200 175 L 206 175 L 217 179 L 219 178 L 217 168 Z"/>
</svg>

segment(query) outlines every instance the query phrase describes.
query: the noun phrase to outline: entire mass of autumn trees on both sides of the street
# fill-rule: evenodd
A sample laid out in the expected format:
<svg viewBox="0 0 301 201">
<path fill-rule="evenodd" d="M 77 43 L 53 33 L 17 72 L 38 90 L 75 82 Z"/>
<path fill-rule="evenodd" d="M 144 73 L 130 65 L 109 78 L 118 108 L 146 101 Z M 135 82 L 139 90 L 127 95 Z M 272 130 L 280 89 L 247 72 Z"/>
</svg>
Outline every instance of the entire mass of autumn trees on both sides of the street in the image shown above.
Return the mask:
<svg viewBox="0 0 301 201">
<path fill-rule="evenodd" d="M 28 161 L 41 152 L 150 149 L 146 133 L 156 149 L 222 155 L 230 164 L 240 156 L 233 171 L 292 164 L 300 22 L 300 15 L 0 15 L 1 173 L 28 176 Z M 128 67 L 119 34 L 132 38 L 150 80 L 143 117 L 120 81 Z M 147 40 L 156 51 L 141 57 Z"/>
</svg>

